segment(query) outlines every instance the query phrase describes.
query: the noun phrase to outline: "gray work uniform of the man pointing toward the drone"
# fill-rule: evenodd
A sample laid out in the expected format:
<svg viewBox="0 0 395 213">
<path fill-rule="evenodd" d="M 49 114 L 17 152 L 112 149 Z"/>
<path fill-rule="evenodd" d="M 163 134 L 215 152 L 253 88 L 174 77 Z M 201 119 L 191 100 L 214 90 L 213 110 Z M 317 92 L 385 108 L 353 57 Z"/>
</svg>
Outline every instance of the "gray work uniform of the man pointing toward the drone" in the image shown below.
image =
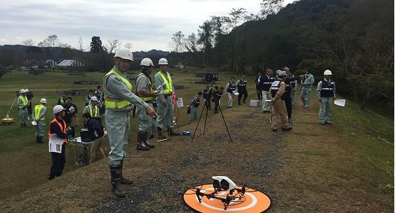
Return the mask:
<svg viewBox="0 0 395 213">
<path fill-rule="evenodd" d="M 120 71 L 118 67 L 114 67 L 113 70 L 118 72 L 120 76 L 126 78 L 125 73 Z M 137 107 L 142 107 L 143 109 L 148 107 L 148 104 L 133 94 L 133 92 L 131 92 L 123 81 L 116 75 L 109 75 L 106 77 L 103 85 L 106 96 L 111 99 L 126 100 L 135 104 Z M 123 160 L 123 158 L 126 157 L 130 130 L 129 111 L 132 110 L 133 107 L 131 104 L 123 109 L 106 108 L 106 127 L 108 132 L 108 141 L 111 148 L 111 151 L 108 154 L 108 159 L 111 166 L 118 166 L 120 164 L 120 160 Z"/>
</svg>

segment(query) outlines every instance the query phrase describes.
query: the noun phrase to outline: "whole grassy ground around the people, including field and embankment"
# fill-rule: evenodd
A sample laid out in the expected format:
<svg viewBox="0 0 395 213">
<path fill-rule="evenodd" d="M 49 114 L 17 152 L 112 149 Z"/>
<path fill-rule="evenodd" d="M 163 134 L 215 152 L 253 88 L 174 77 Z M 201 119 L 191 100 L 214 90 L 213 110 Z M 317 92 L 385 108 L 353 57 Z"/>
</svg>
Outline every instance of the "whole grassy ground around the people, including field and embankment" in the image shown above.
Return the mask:
<svg viewBox="0 0 395 213">
<path fill-rule="evenodd" d="M 175 84 L 184 86 L 178 90 L 184 103 L 205 87 L 193 84 L 199 80 L 195 72 L 205 70 L 173 70 Z M 101 80 L 102 76 L 86 74 L 88 80 Z M 225 87 L 230 76 L 220 73 L 218 85 Z M 35 80 L 27 88 L 34 88 L 36 101 L 47 97 L 51 109 L 58 98 L 54 79 L 62 80 L 58 89 L 67 89 L 81 77 L 62 73 L 37 77 L 24 72 L 4 75 L 0 79 L 0 114 L 5 115 L 14 99 L 14 92 L 6 90 L 19 89 L 19 81 L 30 84 Z M 68 82 L 63 81 L 66 79 Z M 253 78 L 247 79 L 250 98 L 256 98 Z M 74 99 L 82 110 L 85 98 Z M 36 144 L 31 128 L 0 126 L 0 181 L 4 183 L 0 212 L 189 212 L 177 192 L 210 182 L 212 175 L 228 175 L 237 184 L 247 183 L 267 192 L 273 202 L 270 212 L 394 212 L 393 118 L 361 111 L 347 100 L 347 107 L 333 106 L 334 125 L 319 126 L 315 95 L 309 110 L 297 101 L 294 129 L 289 133 L 272 133 L 270 115 L 262 114 L 259 107 L 235 104 L 224 109 L 233 143 L 220 114 L 210 111 L 208 131 L 201 135 L 202 129 L 198 129 L 194 143 L 190 138 L 173 137 L 156 143 L 152 151 L 139 152 L 133 142 L 137 121 L 132 119 L 133 139 L 125 174 L 136 183 L 125 187 L 128 195 L 124 199 L 111 194 L 107 159 L 79 167 L 73 164 L 73 153 L 68 149 L 66 174 L 48 182 L 48 145 Z M 222 97 L 222 106 L 226 102 Z M 195 124 L 188 125 L 185 111 L 181 108 L 178 116 L 180 129 L 193 131 Z M 16 109 L 11 116 L 17 123 Z M 59 199 L 63 202 L 58 206 L 49 204 Z"/>
</svg>

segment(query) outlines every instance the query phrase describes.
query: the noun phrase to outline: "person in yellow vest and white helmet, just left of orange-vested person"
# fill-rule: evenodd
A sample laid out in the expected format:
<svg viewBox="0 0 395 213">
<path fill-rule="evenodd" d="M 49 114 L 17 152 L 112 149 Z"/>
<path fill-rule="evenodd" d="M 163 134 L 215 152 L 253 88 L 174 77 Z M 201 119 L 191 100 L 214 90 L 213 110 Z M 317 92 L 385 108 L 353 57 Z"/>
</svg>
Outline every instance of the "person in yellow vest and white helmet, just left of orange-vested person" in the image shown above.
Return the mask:
<svg viewBox="0 0 395 213">
<path fill-rule="evenodd" d="M 31 117 L 36 121 L 36 142 L 43 143 L 43 136 L 45 131 L 45 114 L 46 114 L 46 99 L 41 99 L 40 104 L 34 107 L 34 112 Z"/>
</svg>

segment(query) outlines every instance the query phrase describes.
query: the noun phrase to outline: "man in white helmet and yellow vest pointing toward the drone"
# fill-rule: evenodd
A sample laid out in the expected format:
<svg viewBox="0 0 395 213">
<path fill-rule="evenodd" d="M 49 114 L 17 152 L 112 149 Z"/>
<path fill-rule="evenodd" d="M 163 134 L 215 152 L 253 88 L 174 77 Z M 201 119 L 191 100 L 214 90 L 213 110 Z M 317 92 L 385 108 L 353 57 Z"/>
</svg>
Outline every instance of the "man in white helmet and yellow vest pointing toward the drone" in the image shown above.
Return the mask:
<svg viewBox="0 0 395 213">
<path fill-rule="evenodd" d="M 132 92 L 132 84 L 126 79 L 133 54 L 126 48 L 120 48 L 114 55 L 114 67 L 103 80 L 104 99 L 106 99 L 106 127 L 111 151 L 108 154 L 111 185 L 113 193 L 118 197 L 125 197 L 121 184 L 131 184 L 123 176 L 123 160 L 129 142 L 130 116 L 132 104 L 145 109 L 148 116 L 156 116 L 155 111 Z"/>
</svg>

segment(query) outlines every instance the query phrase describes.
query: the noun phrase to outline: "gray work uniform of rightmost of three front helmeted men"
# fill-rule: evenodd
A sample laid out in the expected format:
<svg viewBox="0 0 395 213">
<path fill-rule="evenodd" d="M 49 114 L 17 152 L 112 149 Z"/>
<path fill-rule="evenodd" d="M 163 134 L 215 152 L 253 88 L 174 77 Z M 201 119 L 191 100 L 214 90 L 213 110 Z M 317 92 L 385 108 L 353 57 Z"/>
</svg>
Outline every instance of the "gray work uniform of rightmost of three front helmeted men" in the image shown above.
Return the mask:
<svg viewBox="0 0 395 213">
<path fill-rule="evenodd" d="M 161 72 L 161 71 L 159 71 Z M 167 78 L 167 74 L 163 73 Z M 158 88 L 161 84 L 163 84 L 163 79 L 160 77 L 158 73 L 155 74 L 155 88 Z M 173 85 L 172 85 L 173 87 Z M 166 85 L 164 84 L 159 91 L 163 91 L 166 89 Z M 173 87 L 173 92 L 175 89 Z M 160 129 L 170 129 L 174 126 L 173 117 L 174 117 L 174 106 L 173 99 L 171 98 L 171 94 L 161 94 L 156 97 L 156 102 L 158 104 L 158 127 Z M 167 107 L 163 106 L 163 102 L 166 102 Z"/>
</svg>

